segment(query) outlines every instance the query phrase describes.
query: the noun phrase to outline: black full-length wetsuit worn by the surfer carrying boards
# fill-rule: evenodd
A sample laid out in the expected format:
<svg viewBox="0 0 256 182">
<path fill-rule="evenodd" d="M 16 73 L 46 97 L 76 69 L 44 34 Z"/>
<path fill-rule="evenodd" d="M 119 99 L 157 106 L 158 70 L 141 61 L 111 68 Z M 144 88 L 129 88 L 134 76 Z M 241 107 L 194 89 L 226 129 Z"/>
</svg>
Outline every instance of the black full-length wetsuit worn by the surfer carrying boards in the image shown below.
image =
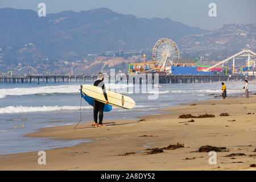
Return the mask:
<svg viewBox="0 0 256 182">
<path fill-rule="evenodd" d="M 106 100 L 108 100 L 108 97 L 106 95 L 106 90 L 105 90 L 104 82 L 102 80 L 96 80 L 93 85 L 94 86 L 101 86 L 101 88 L 103 90 L 104 97 L 105 97 Z M 93 118 L 94 118 L 94 122 L 95 123 L 97 123 L 98 119 L 99 119 L 99 122 L 98 122 L 99 125 L 102 125 L 104 106 L 105 106 L 104 103 L 94 100 L 94 104 L 93 104 Z M 98 112 L 100 112 L 99 115 L 98 115 Z"/>
</svg>

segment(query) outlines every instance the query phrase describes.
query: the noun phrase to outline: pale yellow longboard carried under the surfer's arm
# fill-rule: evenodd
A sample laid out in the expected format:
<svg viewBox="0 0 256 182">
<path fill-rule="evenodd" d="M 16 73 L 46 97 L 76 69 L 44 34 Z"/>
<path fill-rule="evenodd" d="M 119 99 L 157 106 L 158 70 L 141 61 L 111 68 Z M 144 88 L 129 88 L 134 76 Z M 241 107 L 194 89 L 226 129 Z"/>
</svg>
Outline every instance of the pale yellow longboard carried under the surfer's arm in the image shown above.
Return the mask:
<svg viewBox="0 0 256 182">
<path fill-rule="evenodd" d="M 81 90 L 86 96 L 89 96 L 94 100 L 97 100 L 102 103 L 106 102 L 103 90 L 99 86 L 81 85 Z M 128 96 L 108 89 L 106 89 L 106 94 L 108 96 L 109 101 L 108 105 L 123 109 L 133 109 L 133 107 L 135 107 L 134 100 Z"/>
</svg>

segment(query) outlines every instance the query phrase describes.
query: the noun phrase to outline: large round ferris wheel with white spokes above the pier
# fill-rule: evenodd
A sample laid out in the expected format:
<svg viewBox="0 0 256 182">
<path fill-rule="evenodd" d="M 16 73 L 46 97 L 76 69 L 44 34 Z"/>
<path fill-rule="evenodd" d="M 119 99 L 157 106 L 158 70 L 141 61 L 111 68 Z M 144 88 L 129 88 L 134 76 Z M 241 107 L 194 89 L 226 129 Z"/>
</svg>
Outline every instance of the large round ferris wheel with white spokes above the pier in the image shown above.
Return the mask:
<svg viewBox="0 0 256 182">
<path fill-rule="evenodd" d="M 180 53 L 174 40 L 162 38 L 155 43 L 152 56 L 156 66 L 164 69 L 165 67 L 172 65 L 172 60 L 174 58 L 179 58 Z"/>
</svg>

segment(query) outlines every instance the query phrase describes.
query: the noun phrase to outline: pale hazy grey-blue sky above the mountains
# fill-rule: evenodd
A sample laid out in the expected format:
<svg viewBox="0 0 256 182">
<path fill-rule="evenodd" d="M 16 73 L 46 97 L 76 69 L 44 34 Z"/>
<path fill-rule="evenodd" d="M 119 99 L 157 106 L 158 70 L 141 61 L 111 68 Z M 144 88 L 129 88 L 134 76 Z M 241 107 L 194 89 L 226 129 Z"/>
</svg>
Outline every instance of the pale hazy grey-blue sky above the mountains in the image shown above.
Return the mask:
<svg viewBox="0 0 256 182">
<path fill-rule="evenodd" d="M 64 10 L 90 10 L 106 7 L 138 18 L 171 18 L 189 26 L 216 30 L 222 24 L 256 23 L 256 0 L 0 0 L 0 8 L 38 11 L 38 3 L 46 4 L 46 13 Z M 209 3 L 216 3 L 217 17 L 208 15 Z"/>
</svg>

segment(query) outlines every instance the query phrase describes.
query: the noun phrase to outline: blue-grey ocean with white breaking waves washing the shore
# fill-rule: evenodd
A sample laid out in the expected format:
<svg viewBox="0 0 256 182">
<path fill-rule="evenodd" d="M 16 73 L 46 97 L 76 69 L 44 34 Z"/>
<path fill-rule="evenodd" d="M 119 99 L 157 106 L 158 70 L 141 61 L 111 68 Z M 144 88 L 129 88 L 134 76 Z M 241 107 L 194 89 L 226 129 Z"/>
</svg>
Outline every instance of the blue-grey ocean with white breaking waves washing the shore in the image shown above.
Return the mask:
<svg viewBox="0 0 256 182">
<path fill-rule="evenodd" d="M 31 84 L 0 84 L 0 155 L 19 152 L 49 150 L 57 147 L 75 146 L 88 140 L 55 140 L 52 138 L 23 137 L 35 133 L 37 129 L 60 125 L 93 121 L 93 107 L 80 96 L 81 84 L 92 82 L 72 82 L 55 84 L 32 82 Z M 243 94 L 243 82 L 225 82 L 228 96 Z M 159 109 L 178 106 L 185 102 L 221 99 L 221 82 L 197 84 L 160 84 L 150 91 L 133 93 L 134 85 L 105 84 L 106 88 L 116 88 L 116 92 L 134 99 L 134 109 L 125 110 L 113 107 L 104 113 L 104 119 L 138 119 L 141 115 L 159 114 Z M 136 89 L 135 89 L 136 90 Z M 256 84 L 250 84 L 249 91 L 256 91 Z M 155 96 L 155 100 L 148 97 Z M 24 123 L 24 127 L 21 125 Z M 16 129 L 14 126 L 19 125 Z"/>
</svg>

